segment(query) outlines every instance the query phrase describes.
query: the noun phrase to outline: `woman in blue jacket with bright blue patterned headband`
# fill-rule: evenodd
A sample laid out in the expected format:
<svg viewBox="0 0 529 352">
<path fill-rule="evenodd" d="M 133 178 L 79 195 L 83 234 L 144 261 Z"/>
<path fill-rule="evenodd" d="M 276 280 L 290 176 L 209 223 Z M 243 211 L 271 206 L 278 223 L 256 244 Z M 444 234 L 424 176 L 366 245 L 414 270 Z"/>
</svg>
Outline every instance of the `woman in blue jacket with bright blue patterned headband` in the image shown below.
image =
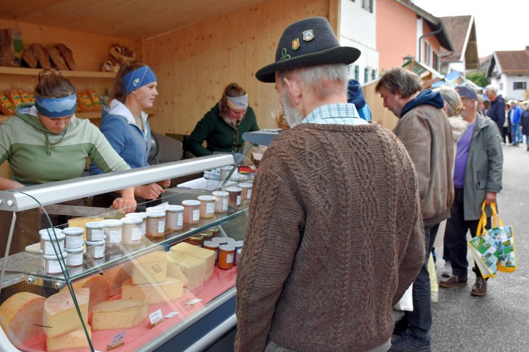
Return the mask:
<svg viewBox="0 0 529 352">
<path fill-rule="evenodd" d="M 99 129 L 114 150 L 132 168 L 148 166 L 147 158 L 152 147 L 151 128 L 145 109 L 152 107 L 158 95 L 156 74 L 144 63 L 121 66 L 114 82 L 114 97 L 108 110 L 103 110 Z M 101 174 L 95 164 L 90 165 L 90 174 Z M 138 204 L 153 200 L 169 187 L 171 180 L 162 180 L 134 188 Z M 109 207 L 113 193 L 94 196 L 93 207 Z M 142 206 L 143 207 L 143 206 Z"/>
</svg>

